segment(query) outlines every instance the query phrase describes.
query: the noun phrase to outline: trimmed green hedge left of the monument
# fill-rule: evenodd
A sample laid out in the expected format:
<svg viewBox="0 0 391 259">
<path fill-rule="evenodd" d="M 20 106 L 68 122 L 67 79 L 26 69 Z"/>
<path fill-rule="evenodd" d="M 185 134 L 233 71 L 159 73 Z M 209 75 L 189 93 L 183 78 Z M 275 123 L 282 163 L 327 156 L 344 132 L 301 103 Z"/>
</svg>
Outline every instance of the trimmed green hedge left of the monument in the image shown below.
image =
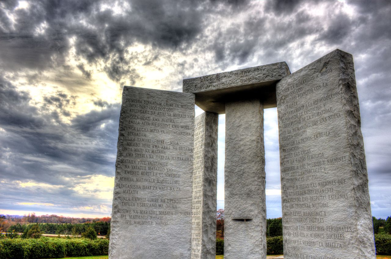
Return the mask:
<svg viewBox="0 0 391 259">
<path fill-rule="evenodd" d="M 86 238 L 3 239 L 0 259 L 60 258 L 65 256 L 107 255 L 109 240 Z"/>
</svg>

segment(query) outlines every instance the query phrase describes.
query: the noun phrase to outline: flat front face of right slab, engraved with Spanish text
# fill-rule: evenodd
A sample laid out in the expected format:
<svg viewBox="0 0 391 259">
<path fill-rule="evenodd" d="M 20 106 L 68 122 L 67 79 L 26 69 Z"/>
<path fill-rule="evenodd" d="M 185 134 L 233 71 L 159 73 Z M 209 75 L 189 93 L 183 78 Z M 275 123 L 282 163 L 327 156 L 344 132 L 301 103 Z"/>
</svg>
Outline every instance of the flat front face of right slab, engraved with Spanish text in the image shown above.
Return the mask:
<svg viewBox="0 0 391 259">
<path fill-rule="evenodd" d="M 352 178 L 338 73 L 329 64 L 277 86 L 284 258 L 340 259 L 357 234 L 346 220 Z"/>
</svg>

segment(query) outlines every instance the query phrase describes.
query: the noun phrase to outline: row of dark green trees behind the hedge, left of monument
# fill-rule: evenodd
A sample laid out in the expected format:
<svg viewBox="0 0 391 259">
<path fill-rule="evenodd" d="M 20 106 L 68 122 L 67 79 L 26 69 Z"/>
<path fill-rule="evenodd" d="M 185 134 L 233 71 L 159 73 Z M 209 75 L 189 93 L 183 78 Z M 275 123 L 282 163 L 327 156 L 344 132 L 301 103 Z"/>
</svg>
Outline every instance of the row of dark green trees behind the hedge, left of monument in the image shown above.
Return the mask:
<svg viewBox="0 0 391 259">
<path fill-rule="evenodd" d="M 104 221 L 96 221 L 92 223 L 81 223 L 81 224 L 55 224 L 55 223 L 33 223 L 33 224 L 20 224 L 16 223 L 8 228 L 7 232 L 24 233 L 28 231 L 33 225 L 39 226 L 39 229 L 43 234 L 56 234 L 56 235 L 81 235 L 86 232 L 88 227 L 92 227 L 97 235 L 106 236 L 109 229 L 110 223 Z"/>
</svg>

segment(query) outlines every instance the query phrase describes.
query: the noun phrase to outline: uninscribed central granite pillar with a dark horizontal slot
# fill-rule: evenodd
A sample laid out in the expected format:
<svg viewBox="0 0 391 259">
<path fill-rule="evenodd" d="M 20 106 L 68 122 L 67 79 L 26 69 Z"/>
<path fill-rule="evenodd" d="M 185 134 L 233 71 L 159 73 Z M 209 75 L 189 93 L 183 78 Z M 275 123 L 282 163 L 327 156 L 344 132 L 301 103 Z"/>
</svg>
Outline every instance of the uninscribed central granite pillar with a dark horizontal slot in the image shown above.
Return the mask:
<svg viewBox="0 0 391 259">
<path fill-rule="evenodd" d="M 259 99 L 226 104 L 226 259 L 266 258 L 263 113 Z"/>
</svg>

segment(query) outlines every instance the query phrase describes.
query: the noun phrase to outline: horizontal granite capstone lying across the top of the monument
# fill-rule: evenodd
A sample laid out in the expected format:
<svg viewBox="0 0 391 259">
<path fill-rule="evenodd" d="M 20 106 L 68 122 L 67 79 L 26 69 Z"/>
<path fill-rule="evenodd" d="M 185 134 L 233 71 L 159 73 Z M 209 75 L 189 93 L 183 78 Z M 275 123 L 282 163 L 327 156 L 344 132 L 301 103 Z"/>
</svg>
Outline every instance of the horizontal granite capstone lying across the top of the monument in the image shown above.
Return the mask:
<svg viewBox="0 0 391 259">
<path fill-rule="evenodd" d="M 276 82 L 291 74 L 285 62 L 183 80 L 183 92 L 207 112 L 225 113 L 225 103 L 257 96 L 264 108 L 276 107 Z"/>
</svg>

